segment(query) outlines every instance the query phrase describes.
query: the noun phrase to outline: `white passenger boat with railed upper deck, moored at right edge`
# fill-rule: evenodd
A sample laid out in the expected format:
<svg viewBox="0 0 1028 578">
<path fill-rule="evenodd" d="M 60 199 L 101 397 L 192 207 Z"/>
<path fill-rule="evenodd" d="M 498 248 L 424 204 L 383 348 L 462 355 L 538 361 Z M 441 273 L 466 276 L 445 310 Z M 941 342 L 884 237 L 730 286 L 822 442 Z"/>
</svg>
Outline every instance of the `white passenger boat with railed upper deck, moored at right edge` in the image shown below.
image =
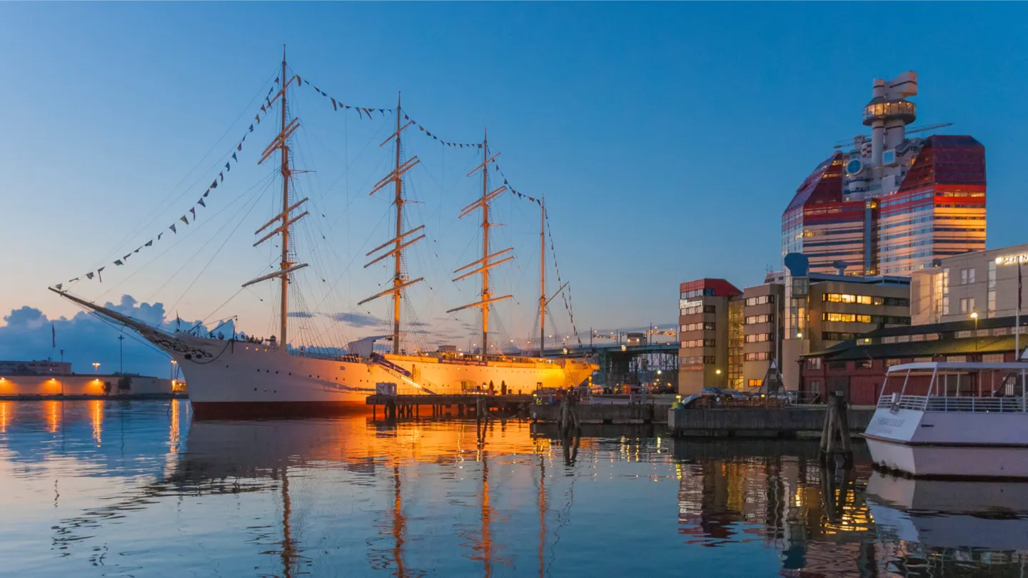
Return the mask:
<svg viewBox="0 0 1028 578">
<path fill-rule="evenodd" d="M 913 476 L 1028 478 L 1028 363 L 889 368 L 864 437 L 877 466 Z"/>
</svg>

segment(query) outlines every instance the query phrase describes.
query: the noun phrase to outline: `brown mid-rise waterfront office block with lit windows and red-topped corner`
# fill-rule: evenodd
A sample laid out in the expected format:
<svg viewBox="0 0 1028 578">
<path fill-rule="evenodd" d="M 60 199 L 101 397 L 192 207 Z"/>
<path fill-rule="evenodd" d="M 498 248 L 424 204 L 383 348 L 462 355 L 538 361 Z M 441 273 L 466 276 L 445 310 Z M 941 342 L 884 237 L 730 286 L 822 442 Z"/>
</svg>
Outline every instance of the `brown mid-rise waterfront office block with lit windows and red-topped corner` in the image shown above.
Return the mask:
<svg viewBox="0 0 1028 578">
<path fill-rule="evenodd" d="M 681 284 L 678 393 L 779 385 L 795 391 L 800 356 L 910 325 L 909 278 L 810 273 L 798 254 L 787 262 L 793 268 L 784 275 L 743 290 L 724 279 Z"/>
</svg>

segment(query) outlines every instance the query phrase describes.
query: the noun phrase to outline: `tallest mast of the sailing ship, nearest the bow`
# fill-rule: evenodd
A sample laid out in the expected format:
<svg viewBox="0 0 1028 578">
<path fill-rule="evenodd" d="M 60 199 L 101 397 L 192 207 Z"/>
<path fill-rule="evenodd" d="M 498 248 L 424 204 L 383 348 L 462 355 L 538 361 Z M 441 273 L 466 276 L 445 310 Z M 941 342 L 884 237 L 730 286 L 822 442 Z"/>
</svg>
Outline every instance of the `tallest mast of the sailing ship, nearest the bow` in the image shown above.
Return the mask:
<svg viewBox="0 0 1028 578">
<path fill-rule="evenodd" d="M 288 349 L 289 349 L 288 346 L 287 346 L 287 344 L 289 342 L 287 340 L 288 339 L 288 335 L 289 335 L 289 333 L 288 333 L 288 330 L 289 330 L 289 275 L 291 273 L 295 272 L 295 270 L 298 270 L 298 269 L 301 269 L 301 268 L 307 266 L 306 263 L 295 263 L 295 262 L 289 260 L 289 238 L 290 238 L 290 232 L 292 232 L 293 224 L 295 224 L 296 221 L 300 220 L 301 218 L 305 217 L 307 215 L 307 212 L 304 211 L 300 215 L 298 215 L 296 217 L 292 217 L 292 218 L 290 217 L 290 215 L 292 214 L 292 212 L 295 209 L 299 208 L 300 205 L 303 205 L 304 203 L 306 203 L 307 200 L 303 198 L 302 201 L 299 201 L 298 203 L 296 203 L 294 205 L 290 205 L 290 201 L 289 201 L 289 179 L 292 176 L 293 172 L 289 168 L 289 145 L 287 143 L 289 142 L 289 137 L 292 136 L 292 134 L 295 133 L 296 130 L 300 128 L 300 119 L 297 118 L 297 117 L 294 117 L 292 120 L 288 119 L 289 111 L 286 108 L 286 89 L 289 87 L 289 84 L 292 83 L 292 81 L 293 81 L 293 79 L 294 78 L 289 78 L 288 80 L 286 79 L 286 46 L 285 45 L 283 45 L 283 47 L 282 47 L 282 76 L 281 76 L 281 78 L 282 78 L 282 89 L 279 91 L 279 94 L 277 94 L 274 96 L 274 98 L 269 101 L 270 103 L 274 103 L 274 101 L 277 101 L 280 97 L 282 98 L 282 105 L 281 105 L 281 108 L 282 108 L 282 124 L 281 124 L 281 131 L 279 132 L 278 135 L 276 135 L 274 139 L 271 140 L 271 144 L 267 145 L 267 147 L 264 149 L 264 153 L 261 155 L 261 159 L 258 160 L 257 164 L 260 165 L 260 164 L 264 162 L 265 160 L 267 160 L 271 156 L 271 153 L 273 153 L 276 150 L 280 151 L 280 153 L 281 153 L 281 166 L 280 166 L 279 170 L 282 173 L 282 213 L 280 213 L 279 215 L 272 217 L 271 220 L 269 220 L 268 222 L 264 223 L 264 226 L 262 226 L 259 229 L 257 229 L 256 231 L 254 231 L 254 234 L 260 234 L 261 231 L 263 231 L 267 227 L 276 224 L 277 222 L 281 222 L 282 224 L 280 224 L 277 228 L 272 229 L 270 232 L 268 232 L 267 234 L 265 234 L 264 237 L 262 237 L 260 240 L 258 240 L 256 243 L 254 243 L 254 247 L 260 245 L 261 243 L 264 243 L 265 241 L 267 241 L 268 239 L 271 239 L 276 234 L 281 234 L 282 236 L 282 239 L 281 239 L 281 242 L 282 242 L 282 259 L 279 262 L 279 270 L 277 270 L 277 272 L 274 272 L 272 274 L 269 274 L 269 275 L 265 275 L 265 276 L 262 276 L 262 277 L 258 277 L 256 279 L 252 279 L 252 280 L 244 283 L 243 286 L 244 287 L 249 287 L 250 285 L 253 285 L 255 283 L 259 283 L 261 281 L 267 281 L 268 279 L 274 279 L 274 278 L 279 278 L 281 280 L 281 283 L 282 283 L 282 287 L 281 287 L 282 301 L 280 303 L 280 311 L 279 311 L 279 317 L 280 317 L 279 351 L 283 352 L 283 353 L 287 353 Z"/>
</svg>

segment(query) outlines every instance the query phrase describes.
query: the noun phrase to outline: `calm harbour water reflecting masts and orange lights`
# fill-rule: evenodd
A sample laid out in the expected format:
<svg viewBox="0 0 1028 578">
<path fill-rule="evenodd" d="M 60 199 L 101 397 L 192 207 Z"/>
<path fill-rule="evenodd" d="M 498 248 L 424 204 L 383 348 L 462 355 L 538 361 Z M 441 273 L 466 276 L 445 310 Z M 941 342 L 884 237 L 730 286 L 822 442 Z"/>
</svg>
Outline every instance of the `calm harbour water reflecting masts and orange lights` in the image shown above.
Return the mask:
<svg viewBox="0 0 1028 578">
<path fill-rule="evenodd" d="M 0 575 L 1028 576 L 1028 484 L 596 433 L 0 401 Z"/>
</svg>

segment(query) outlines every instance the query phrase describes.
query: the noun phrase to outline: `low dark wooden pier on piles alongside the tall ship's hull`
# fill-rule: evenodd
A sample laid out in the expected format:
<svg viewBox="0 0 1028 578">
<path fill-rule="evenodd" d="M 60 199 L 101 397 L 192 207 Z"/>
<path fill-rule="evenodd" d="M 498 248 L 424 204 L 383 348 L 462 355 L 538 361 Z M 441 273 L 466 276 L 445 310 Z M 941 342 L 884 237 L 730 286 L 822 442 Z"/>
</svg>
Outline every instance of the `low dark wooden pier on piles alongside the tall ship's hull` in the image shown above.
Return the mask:
<svg viewBox="0 0 1028 578">
<path fill-rule="evenodd" d="M 369 395 L 371 418 L 377 419 L 378 406 L 382 418 L 419 418 L 421 408 L 427 417 L 455 416 L 482 419 L 493 411 L 516 414 L 533 403 L 531 395 Z"/>
</svg>

